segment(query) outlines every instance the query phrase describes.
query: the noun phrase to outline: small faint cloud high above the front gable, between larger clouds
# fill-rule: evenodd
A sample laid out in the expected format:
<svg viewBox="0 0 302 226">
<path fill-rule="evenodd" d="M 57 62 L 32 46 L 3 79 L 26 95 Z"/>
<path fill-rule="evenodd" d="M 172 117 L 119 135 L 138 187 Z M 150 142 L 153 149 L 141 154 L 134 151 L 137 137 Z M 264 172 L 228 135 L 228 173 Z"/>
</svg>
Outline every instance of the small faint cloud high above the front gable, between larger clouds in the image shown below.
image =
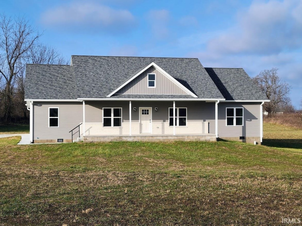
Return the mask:
<svg viewBox="0 0 302 226">
<path fill-rule="evenodd" d="M 169 36 L 169 11 L 165 9 L 151 10 L 147 14 L 147 20 L 151 25 L 152 34 L 156 39 L 165 39 Z"/>
</svg>

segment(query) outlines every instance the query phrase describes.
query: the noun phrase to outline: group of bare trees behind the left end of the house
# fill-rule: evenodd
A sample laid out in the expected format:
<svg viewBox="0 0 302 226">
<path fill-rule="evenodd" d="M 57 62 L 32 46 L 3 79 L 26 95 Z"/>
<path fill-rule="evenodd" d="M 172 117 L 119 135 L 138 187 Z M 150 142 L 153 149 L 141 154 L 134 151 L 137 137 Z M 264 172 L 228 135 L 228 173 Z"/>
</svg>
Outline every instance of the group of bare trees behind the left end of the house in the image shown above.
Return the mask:
<svg viewBox="0 0 302 226">
<path fill-rule="evenodd" d="M 67 64 L 56 49 L 43 45 L 36 27 L 24 17 L 0 14 L 0 122 L 24 122 L 26 64 Z"/>
</svg>

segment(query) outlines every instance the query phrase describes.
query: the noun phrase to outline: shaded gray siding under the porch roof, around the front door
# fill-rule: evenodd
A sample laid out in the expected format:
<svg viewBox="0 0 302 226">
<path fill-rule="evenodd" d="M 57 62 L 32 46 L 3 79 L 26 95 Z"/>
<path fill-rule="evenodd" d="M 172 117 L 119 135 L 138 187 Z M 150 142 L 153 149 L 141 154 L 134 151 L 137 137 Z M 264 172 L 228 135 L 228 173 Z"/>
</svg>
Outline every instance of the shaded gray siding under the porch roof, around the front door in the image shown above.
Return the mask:
<svg viewBox="0 0 302 226">
<path fill-rule="evenodd" d="M 139 122 L 139 108 L 152 107 L 153 122 L 168 122 L 169 108 L 173 107 L 173 101 L 132 101 L 131 102 L 132 122 Z M 85 101 L 85 122 L 102 123 L 102 108 L 122 108 L 123 122 L 129 122 L 129 101 Z M 136 111 L 133 108 L 136 107 Z M 155 111 L 155 107 L 158 111 Z M 209 133 L 215 133 L 215 103 L 202 101 L 176 101 L 175 107 L 186 107 L 188 122 L 207 121 L 209 122 Z"/>
</svg>

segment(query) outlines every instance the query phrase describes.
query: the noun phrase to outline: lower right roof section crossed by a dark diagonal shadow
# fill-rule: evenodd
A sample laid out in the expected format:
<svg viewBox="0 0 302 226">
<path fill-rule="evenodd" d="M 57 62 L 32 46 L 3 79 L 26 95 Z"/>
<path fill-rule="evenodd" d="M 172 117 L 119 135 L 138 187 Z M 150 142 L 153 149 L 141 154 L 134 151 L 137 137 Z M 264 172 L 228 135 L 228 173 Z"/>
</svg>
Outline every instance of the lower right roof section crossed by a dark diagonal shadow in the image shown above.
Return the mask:
<svg viewBox="0 0 302 226">
<path fill-rule="evenodd" d="M 226 100 L 266 100 L 267 97 L 243 68 L 205 67 Z"/>
</svg>

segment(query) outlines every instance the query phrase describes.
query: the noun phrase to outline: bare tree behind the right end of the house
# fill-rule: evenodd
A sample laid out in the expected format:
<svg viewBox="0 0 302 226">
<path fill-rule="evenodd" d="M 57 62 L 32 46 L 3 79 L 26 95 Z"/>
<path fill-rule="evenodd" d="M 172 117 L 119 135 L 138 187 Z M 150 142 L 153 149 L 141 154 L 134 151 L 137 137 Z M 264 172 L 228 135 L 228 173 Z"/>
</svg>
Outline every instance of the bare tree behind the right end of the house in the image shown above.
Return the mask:
<svg viewBox="0 0 302 226">
<path fill-rule="evenodd" d="M 291 86 L 281 81 L 277 75 L 278 68 L 271 70 L 263 70 L 253 78 L 254 82 L 261 88 L 262 92 L 267 96 L 270 102 L 263 105 L 265 111 L 271 116 L 277 107 L 288 102 Z"/>
</svg>

